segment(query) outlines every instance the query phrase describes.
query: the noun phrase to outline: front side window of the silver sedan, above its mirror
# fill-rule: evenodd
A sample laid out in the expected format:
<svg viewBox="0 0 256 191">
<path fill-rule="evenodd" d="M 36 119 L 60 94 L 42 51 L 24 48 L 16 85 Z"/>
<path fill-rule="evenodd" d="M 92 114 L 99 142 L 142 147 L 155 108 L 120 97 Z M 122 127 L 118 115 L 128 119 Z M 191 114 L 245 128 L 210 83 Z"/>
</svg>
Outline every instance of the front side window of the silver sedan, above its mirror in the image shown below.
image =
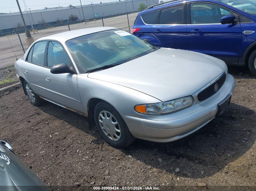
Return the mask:
<svg viewBox="0 0 256 191">
<path fill-rule="evenodd" d="M 53 67 L 57 64 L 66 64 L 70 67 L 70 59 L 60 43 L 50 41 L 47 51 L 47 66 Z"/>
</svg>

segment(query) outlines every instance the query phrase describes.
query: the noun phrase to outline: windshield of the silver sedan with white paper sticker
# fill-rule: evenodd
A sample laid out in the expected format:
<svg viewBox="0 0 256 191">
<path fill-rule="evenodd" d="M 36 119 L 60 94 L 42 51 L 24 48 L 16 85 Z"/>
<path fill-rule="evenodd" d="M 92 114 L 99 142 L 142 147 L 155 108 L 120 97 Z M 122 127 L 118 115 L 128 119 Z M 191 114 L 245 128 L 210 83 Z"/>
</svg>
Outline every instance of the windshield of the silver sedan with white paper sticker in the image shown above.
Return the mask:
<svg viewBox="0 0 256 191">
<path fill-rule="evenodd" d="M 118 65 L 156 50 L 124 30 L 114 29 L 77 37 L 66 42 L 81 73 L 105 65 Z"/>
</svg>

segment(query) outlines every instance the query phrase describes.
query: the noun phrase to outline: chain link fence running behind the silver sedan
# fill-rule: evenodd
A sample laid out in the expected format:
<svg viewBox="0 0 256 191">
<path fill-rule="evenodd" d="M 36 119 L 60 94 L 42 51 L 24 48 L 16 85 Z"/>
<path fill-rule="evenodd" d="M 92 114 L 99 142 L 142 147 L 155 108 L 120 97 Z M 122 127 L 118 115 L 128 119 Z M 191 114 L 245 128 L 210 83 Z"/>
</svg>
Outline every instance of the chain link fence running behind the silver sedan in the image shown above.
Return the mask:
<svg viewBox="0 0 256 191">
<path fill-rule="evenodd" d="M 130 31 L 139 11 L 104 16 L 83 21 L 68 21 L 65 23 L 42 26 L 30 29 L 31 37 L 37 40 L 52 34 L 91 27 L 116 27 Z M 18 28 L 17 28 L 18 29 Z M 18 82 L 14 62 L 23 56 L 28 49 L 25 30 L 0 33 L 0 88 Z"/>
</svg>

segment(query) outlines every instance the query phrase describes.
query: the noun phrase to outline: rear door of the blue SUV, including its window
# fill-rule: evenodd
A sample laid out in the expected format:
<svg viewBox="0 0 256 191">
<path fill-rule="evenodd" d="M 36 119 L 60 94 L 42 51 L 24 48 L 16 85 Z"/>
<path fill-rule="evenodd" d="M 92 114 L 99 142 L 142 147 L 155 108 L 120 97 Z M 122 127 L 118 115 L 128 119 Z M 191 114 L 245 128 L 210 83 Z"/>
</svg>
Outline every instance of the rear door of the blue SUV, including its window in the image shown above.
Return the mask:
<svg viewBox="0 0 256 191">
<path fill-rule="evenodd" d="M 158 47 L 187 49 L 186 3 L 159 10 L 150 42 Z"/>
</svg>

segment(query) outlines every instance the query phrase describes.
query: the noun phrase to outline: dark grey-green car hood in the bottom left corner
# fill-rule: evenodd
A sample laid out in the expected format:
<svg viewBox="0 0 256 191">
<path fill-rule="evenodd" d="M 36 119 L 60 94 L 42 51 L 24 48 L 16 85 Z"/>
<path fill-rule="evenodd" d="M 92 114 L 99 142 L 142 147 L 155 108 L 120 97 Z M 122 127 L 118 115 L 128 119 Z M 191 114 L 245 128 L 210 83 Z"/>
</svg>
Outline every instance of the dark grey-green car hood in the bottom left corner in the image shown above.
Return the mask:
<svg viewBox="0 0 256 191">
<path fill-rule="evenodd" d="M 0 185 L 12 190 L 47 191 L 45 184 L 12 151 L 0 143 L 0 154 L 9 158 L 9 163 L 0 158 Z M 7 189 L 8 190 L 8 189 Z"/>
</svg>

